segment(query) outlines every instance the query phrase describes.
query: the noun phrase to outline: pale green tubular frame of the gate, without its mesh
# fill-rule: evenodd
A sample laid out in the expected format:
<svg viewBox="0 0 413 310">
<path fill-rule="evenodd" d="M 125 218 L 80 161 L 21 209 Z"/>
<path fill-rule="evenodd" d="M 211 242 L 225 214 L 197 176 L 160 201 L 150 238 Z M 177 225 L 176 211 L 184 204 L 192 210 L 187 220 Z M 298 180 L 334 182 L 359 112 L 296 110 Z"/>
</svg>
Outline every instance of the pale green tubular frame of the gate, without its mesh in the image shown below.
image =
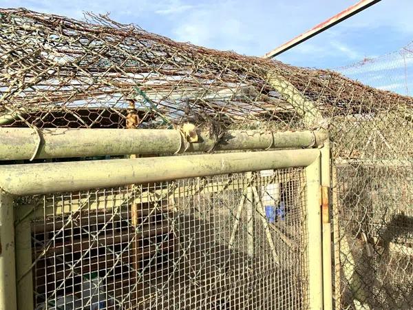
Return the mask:
<svg viewBox="0 0 413 310">
<path fill-rule="evenodd" d="M 139 132 L 140 130 L 129 130 Z M 297 133 L 298 139 L 308 138 L 308 133 Z M 313 134 L 313 145 L 324 145 L 321 149 L 288 149 L 266 152 L 239 152 L 225 154 L 202 154 L 191 156 L 165 156 L 156 158 L 129 158 L 111 161 L 80 161 L 65 163 L 39 163 L 0 166 L 0 222 L 1 244 L 0 277 L 8 283 L 0 289 L 1 309 L 32 309 L 28 300 L 32 298 L 31 274 L 25 274 L 31 265 L 30 223 L 19 223 L 14 231 L 13 195 L 45 194 L 50 192 L 75 191 L 96 187 L 112 187 L 136 183 L 151 183 L 176 178 L 251 172 L 264 169 L 281 169 L 287 167 L 306 167 L 306 200 L 308 227 L 308 305 L 310 309 L 326 307 L 326 286 L 328 278 L 324 276 L 326 260 L 322 260 L 321 239 L 321 183 L 329 182 L 328 144 L 326 134 Z M 273 134 L 271 134 L 273 136 Z M 247 144 L 251 141 L 247 141 Z M 293 144 L 293 143 L 290 143 Z M 242 148 L 243 146 L 240 145 Z M 19 155 L 17 155 L 19 156 Z M 324 227 L 323 227 L 324 229 Z M 14 258 L 14 233 L 17 246 L 17 260 Z M 7 240 L 6 240 L 7 238 Z M 7 243 L 4 243 L 7 242 Z M 9 247 L 5 247 L 7 244 Z M 17 266 L 16 265 L 17 262 Z M 20 279 L 16 283 L 16 275 Z M 330 275 L 331 276 L 331 275 Z M 16 289 L 17 288 L 17 289 Z M 328 292 L 328 291 L 327 291 Z M 17 296 L 17 298 L 16 298 Z M 17 301 L 18 300 L 18 301 Z M 328 308 L 326 308 L 328 309 Z"/>
</svg>

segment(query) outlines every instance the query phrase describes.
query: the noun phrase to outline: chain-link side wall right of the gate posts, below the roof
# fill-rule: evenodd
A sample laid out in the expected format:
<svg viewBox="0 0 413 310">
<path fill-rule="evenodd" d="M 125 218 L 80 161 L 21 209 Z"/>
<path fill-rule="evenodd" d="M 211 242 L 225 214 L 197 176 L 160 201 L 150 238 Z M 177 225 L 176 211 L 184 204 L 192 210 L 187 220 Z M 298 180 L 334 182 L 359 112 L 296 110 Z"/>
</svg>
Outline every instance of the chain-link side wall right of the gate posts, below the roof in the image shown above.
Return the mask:
<svg viewBox="0 0 413 310">
<path fill-rule="evenodd" d="M 389 107 L 336 124 L 337 309 L 413 307 L 413 123 Z"/>
</svg>

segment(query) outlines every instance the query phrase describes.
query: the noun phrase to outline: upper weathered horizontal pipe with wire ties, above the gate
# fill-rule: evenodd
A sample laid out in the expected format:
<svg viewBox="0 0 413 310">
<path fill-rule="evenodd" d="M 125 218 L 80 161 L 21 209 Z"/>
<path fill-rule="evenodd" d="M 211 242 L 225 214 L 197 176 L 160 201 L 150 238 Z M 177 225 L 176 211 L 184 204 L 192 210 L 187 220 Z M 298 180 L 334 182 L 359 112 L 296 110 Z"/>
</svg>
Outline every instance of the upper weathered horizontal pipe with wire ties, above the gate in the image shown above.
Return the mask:
<svg viewBox="0 0 413 310">
<path fill-rule="evenodd" d="M 188 143 L 180 130 L 42 129 L 0 127 L 0 161 L 123 154 L 173 154 L 236 149 L 316 147 L 322 132 L 230 130 L 217 141 L 207 132 Z"/>
</svg>

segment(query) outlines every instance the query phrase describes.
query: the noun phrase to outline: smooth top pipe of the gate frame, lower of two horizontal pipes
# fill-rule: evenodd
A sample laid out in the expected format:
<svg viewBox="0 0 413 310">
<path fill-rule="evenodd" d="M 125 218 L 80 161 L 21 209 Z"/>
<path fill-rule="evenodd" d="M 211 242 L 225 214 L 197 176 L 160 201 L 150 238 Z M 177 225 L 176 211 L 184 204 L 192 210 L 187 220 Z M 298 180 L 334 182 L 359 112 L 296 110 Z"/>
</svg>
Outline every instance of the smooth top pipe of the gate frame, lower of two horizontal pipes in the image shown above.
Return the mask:
<svg viewBox="0 0 413 310">
<path fill-rule="evenodd" d="M 13 195 L 70 192 L 271 168 L 305 167 L 318 149 L 128 158 L 0 166 L 0 189 Z"/>
</svg>

